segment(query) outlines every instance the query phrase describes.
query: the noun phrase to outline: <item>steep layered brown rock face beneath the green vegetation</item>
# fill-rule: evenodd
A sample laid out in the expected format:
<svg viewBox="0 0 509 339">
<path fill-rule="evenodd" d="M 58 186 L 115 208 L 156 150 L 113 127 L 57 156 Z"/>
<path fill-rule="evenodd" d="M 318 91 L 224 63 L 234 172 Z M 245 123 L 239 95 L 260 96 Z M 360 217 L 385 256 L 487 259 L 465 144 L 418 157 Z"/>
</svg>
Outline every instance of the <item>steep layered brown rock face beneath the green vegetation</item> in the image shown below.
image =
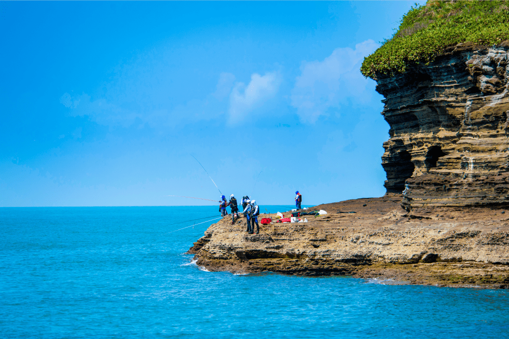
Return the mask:
<svg viewBox="0 0 509 339">
<path fill-rule="evenodd" d="M 377 77 L 390 125 L 382 166 L 402 206 L 509 205 L 509 42 L 460 44 Z M 405 189 L 406 188 L 406 189 Z"/>
</svg>

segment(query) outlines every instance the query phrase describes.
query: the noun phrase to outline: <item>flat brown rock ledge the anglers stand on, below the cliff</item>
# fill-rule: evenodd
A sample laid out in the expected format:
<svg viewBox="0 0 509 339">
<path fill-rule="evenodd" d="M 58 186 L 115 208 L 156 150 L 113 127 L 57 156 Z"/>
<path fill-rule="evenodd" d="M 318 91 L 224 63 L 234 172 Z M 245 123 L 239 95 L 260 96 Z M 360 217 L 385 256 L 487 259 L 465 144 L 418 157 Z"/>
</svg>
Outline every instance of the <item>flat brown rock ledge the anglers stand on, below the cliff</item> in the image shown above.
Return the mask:
<svg viewBox="0 0 509 339">
<path fill-rule="evenodd" d="M 326 215 L 260 225 L 258 235 L 245 232 L 245 218 L 232 225 L 225 217 L 212 224 L 189 253 L 209 271 L 509 288 L 509 213 L 499 207 L 407 212 L 401 200 L 401 194 L 387 193 L 319 205 L 312 210 L 323 209 Z M 340 213 L 349 211 L 356 213 Z"/>
</svg>

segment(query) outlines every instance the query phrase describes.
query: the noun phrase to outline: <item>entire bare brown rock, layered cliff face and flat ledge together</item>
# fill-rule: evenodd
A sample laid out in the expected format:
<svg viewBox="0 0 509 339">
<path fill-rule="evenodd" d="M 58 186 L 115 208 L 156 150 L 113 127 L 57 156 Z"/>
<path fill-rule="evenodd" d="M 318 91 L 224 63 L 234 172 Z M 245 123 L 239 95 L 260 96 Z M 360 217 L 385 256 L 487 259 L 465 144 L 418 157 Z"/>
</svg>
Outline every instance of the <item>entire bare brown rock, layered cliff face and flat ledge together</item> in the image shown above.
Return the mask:
<svg viewBox="0 0 509 339">
<path fill-rule="evenodd" d="M 317 206 L 328 214 L 259 235 L 228 218 L 190 248 L 197 264 L 509 287 L 508 51 L 507 42 L 463 43 L 428 65 L 374 76 L 390 125 L 385 196 Z"/>
</svg>

